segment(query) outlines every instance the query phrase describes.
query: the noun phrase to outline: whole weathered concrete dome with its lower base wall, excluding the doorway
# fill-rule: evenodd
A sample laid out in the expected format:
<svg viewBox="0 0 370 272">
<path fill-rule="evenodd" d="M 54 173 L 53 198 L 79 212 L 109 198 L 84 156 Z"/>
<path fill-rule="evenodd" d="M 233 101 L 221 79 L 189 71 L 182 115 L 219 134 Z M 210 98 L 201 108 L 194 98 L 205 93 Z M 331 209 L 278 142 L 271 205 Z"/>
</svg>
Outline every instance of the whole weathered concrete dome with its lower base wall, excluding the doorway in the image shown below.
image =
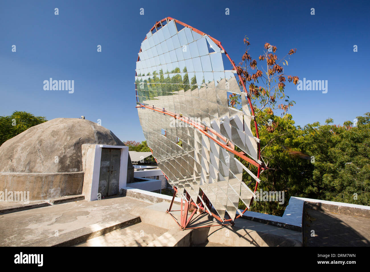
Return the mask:
<svg viewBox="0 0 370 272">
<path fill-rule="evenodd" d="M 30 200 L 83 193 L 83 144 L 124 145 L 110 130 L 79 118 L 29 128 L 0 147 L 0 191 L 27 191 Z M 134 179 L 131 159 L 127 182 Z"/>
</svg>

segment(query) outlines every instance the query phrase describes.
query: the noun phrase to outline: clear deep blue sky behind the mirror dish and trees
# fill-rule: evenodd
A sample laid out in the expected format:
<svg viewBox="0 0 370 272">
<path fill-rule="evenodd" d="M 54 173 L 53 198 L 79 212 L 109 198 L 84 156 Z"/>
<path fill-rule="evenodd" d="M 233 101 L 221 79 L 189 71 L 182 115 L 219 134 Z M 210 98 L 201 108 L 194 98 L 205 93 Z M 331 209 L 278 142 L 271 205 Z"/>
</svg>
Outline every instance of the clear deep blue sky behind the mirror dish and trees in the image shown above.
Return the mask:
<svg viewBox="0 0 370 272">
<path fill-rule="evenodd" d="M 287 84 L 296 125 L 328 117 L 343 124 L 370 111 L 369 1 L 232 2 L 1 1 L 0 115 L 85 115 L 101 119 L 122 141 L 144 140 L 135 109 L 135 61 L 146 33 L 168 16 L 221 41 L 235 63 L 245 51 L 245 35 L 252 58 L 266 42 L 277 46 L 279 57 L 297 48 L 285 73 L 327 80 L 328 92 Z M 74 93 L 45 91 L 43 81 L 50 77 L 74 80 Z"/>
</svg>

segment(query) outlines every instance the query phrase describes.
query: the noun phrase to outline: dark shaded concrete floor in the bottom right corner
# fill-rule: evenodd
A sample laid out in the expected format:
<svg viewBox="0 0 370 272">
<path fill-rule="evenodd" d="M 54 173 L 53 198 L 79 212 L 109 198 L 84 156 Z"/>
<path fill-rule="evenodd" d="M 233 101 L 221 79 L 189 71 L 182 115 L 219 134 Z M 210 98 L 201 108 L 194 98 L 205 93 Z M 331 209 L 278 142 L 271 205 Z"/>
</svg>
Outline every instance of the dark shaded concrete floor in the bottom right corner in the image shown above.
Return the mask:
<svg viewBox="0 0 370 272">
<path fill-rule="evenodd" d="M 305 212 L 305 246 L 370 246 L 370 218 L 313 209 Z"/>
</svg>

